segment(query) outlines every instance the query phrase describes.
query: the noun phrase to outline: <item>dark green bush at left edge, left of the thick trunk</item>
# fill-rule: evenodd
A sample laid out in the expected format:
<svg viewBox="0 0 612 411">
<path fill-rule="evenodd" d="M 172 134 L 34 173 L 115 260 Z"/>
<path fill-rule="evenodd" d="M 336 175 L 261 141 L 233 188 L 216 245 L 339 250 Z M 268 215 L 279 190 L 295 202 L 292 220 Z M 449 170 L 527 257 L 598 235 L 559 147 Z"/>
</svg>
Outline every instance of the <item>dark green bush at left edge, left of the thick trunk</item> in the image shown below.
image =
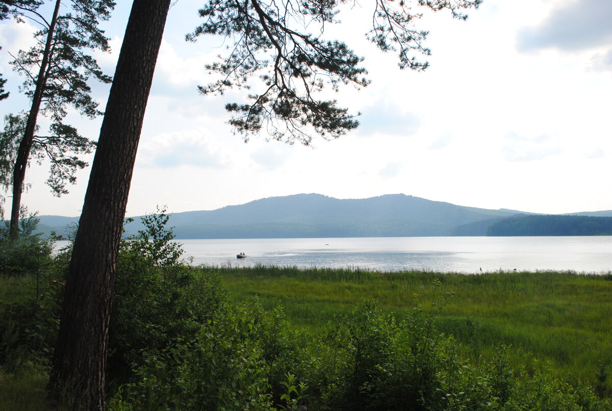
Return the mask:
<svg viewBox="0 0 612 411">
<path fill-rule="evenodd" d="M 58 333 L 69 252 L 53 255 L 56 237 L 34 234 L 38 221 L 22 218 L 16 242 L 0 230 L 0 273 L 13 294 L 0 301 L 0 364 L 9 372 L 47 368 Z"/>
</svg>

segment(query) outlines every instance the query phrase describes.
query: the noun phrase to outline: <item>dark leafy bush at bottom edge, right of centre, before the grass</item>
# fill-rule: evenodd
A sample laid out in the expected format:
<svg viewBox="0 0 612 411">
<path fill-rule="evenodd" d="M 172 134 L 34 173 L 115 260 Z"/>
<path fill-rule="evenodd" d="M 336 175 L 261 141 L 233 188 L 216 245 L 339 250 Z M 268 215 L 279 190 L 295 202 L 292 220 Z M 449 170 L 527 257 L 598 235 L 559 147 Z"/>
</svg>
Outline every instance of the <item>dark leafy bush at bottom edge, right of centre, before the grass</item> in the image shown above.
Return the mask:
<svg viewBox="0 0 612 411">
<path fill-rule="evenodd" d="M 452 293 L 438 297 L 431 307 L 442 308 L 449 297 Z M 448 342 L 437 333 L 435 320 L 420 305 L 398 320 L 366 301 L 329 324 L 330 349 L 320 361 L 327 387 L 318 387 L 326 409 L 424 409 L 438 401 L 436 373 Z"/>
</svg>

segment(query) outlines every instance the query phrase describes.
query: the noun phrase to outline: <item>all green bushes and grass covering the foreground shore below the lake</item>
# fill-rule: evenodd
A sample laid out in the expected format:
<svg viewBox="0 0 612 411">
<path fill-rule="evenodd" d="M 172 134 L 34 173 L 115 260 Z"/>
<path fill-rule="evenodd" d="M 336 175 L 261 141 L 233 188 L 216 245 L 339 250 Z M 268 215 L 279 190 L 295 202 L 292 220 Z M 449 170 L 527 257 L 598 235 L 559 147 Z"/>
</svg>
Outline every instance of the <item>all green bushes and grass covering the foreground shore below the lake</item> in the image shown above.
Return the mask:
<svg viewBox="0 0 612 411">
<path fill-rule="evenodd" d="M 70 250 L 22 221 L 1 243 L 0 403 L 42 410 Z M 167 221 L 121 245 L 110 410 L 612 406 L 611 275 L 191 267 Z"/>
</svg>

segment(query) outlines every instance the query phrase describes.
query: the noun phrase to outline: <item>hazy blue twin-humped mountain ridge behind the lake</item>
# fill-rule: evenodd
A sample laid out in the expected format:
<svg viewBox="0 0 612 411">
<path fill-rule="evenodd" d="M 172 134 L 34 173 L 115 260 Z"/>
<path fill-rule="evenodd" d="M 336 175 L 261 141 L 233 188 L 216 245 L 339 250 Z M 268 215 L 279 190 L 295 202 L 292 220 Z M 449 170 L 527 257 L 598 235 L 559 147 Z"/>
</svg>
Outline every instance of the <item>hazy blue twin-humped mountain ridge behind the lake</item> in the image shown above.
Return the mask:
<svg viewBox="0 0 612 411">
<path fill-rule="evenodd" d="M 364 199 L 295 194 L 173 213 L 170 225 L 177 239 L 487 235 L 492 224 L 520 214 L 529 213 L 456 206 L 405 194 Z M 62 234 L 65 226 L 77 221 L 78 217 L 40 216 L 40 228 Z M 141 228 L 136 217 L 126 232 Z"/>
</svg>

